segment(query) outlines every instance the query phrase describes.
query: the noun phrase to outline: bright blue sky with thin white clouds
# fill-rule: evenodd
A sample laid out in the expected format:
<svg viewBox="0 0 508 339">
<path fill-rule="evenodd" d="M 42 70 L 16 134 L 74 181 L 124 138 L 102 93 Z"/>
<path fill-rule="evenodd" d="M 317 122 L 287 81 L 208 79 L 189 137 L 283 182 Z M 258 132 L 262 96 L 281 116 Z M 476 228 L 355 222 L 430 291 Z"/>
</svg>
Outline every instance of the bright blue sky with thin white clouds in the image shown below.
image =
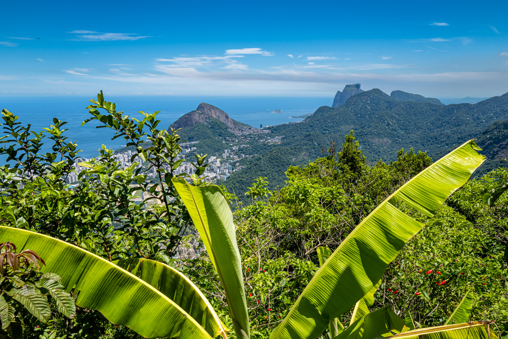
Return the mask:
<svg viewBox="0 0 508 339">
<path fill-rule="evenodd" d="M 0 96 L 508 92 L 508 2 L 3 2 Z"/>
</svg>

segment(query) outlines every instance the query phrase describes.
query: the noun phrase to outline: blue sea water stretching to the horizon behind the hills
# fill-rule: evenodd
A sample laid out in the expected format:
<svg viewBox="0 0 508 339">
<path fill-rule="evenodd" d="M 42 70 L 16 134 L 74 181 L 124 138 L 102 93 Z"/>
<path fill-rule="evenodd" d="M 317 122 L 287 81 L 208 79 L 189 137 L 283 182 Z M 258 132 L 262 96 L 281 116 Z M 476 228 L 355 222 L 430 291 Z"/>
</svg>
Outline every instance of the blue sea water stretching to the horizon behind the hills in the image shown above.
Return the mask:
<svg viewBox="0 0 508 339">
<path fill-rule="evenodd" d="M 154 112 L 162 120 L 159 127 L 169 126 L 180 116 L 195 110 L 201 102 L 214 105 L 233 119 L 252 127 L 280 125 L 302 119 L 290 118 L 293 115 L 313 113 L 321 106 L 331 105 L 333 98 L 320 97 L 143 97 L 143 96 L 105 96 L 106 100 L 115 102 L 117 110 L 124 111 L 133 117 L 141 116 L 140 110 Z M 89 97 L 0 97 L 0 109 L 6 108 L 20 117 L 23 124 L 31 124 L 31 129 L 39 132 L 41 128 L 52 125 L 53 117 L 67 121 L 69 129 L 65 133 L 72 141 L 77 141 L 83 150 L 81 157 L 92 158 L 98 155 L 101 144 L 117 149 L 125 144 L 125 140 L 111 140 L 113 132 L 108 129 L 96 129 L 97 122 L 91 121 L 81 127 L 81 122 L 91 115 L 85 109 Z M 280 109 L 283 113 L 271 113 Z M 2 122 L 3 120 L 0 120 Z M 49 143 L 48 145 L 49 146 Z M 0 157 L 0 164 L 4 162 Z"/>
</svg>

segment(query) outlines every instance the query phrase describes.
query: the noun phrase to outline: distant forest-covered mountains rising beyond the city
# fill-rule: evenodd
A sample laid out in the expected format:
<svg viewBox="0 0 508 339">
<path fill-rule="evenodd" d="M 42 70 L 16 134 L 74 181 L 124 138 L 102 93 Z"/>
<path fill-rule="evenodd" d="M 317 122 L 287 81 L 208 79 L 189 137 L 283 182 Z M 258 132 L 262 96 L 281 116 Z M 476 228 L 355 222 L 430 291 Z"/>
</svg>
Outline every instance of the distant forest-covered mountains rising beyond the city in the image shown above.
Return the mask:
<svg viewBox="0 0 508 339">
<path fill-rule="evenodd" d="M 499 146 L 492 146 L 490 151 L 489 145 L 502 148 L 508 139 L 508 128 L 502 125 L 506 122 L 494 124 L 496 120 L 508 120 L 508 93 L 472 105 L 443 105 L 437 99 L 403 91 L 394 91 L 388 96 L 379 89 L 363 91 L 359 84 L 358 87 L 346 86 L 346 89 L 338 102 L 342 101 L 344 93 L 346 96 L 352 91 L 358 93 L 338 107 L 320 107 L 302 122 L 269 127 L 269 134 L 261 135 L 263 130 L 253 128 L 245 130 L 246 125 L 240 127 L 237 121 L 214 106 L 208 105 L 215 113 L 211 109 L 206 113 L 207 110 L 200 108 L 206 104 L 200 104 L 196 111 L 187 113 L 188 118 L 182 119 L 184 115 L 172 126 L 182 126 L 179 121 L 186 121 L 187 125 L 180 131 L 182 138 L 201 141 L 200 152 L 210 154 L 241 143 L 247 146 L 242 152 L 250 158 L 240 161 L 244 169 L 233 173 L 225 182 L 226 187 L 237 194 L 245 192 L 246 185 L 259 176 L 267 177 L 271 187 L 283 186 L 283 173 L 288 166 L 306 164 L 320 157 L 322 147 L 328 147 L 331 139 L 340 144 L 351 130 L 355 131 L 364 155 L 372 162 L 396 160 L 398 150 L 410 147 L 437 158 L 442 151 L 471 138 L 478 138 L 479 144 L 486 140 L 485 150 L 490 152 L 490 158 L 504 157 L 503 151 L 495 150 L 496 147 L 500 149 Z M 204 122 L 201 122 L 203 116 Z M 229 125 L 225 122 L 230 121 L 228 118 Z M 189 126 L 188 121 L 195 121 L 194 126 Z M 491 125 L 497 133 L 485 134 Z M 243 129 L 243 134 L 251 132 L 252 135 L 242 136 L 240 140 L 239 128 Z M 268 143 L 267 136 L 281 138 L 281 141 Z"/>
</svg>

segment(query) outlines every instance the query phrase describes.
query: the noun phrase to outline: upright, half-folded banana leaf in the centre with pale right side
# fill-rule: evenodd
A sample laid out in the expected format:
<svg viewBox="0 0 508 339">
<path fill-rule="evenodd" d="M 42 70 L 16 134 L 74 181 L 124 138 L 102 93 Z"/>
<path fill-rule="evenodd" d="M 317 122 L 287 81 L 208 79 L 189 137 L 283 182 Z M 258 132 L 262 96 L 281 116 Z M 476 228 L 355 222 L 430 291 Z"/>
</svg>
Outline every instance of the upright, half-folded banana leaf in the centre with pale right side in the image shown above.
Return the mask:
<svg viewBox="0 0 508 339">
<path fill-rule="evenodd" d="M 218 186 L 190 186 L 173 180 L 196 226 L 228 299 L 237 337 L 250 337 L 242 262 L 236 243 L 233 213 Z"/>
</svg>

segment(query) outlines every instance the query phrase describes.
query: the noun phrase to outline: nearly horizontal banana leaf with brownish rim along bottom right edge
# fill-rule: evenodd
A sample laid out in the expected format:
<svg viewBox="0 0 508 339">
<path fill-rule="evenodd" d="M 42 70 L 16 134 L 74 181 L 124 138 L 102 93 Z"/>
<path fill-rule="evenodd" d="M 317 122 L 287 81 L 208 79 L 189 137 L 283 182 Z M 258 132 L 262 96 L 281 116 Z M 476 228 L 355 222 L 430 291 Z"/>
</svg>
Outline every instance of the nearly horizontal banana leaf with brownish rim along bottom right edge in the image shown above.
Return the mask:
<svg viewBox="0 0 508 339">
<path fill-rule="evenodd" d="M 496 339 L 491 321 L 419 328 L 390 336 L 390 339 Z M 382 339 L 382 338 L 378 338 Z"/>
</svg>

